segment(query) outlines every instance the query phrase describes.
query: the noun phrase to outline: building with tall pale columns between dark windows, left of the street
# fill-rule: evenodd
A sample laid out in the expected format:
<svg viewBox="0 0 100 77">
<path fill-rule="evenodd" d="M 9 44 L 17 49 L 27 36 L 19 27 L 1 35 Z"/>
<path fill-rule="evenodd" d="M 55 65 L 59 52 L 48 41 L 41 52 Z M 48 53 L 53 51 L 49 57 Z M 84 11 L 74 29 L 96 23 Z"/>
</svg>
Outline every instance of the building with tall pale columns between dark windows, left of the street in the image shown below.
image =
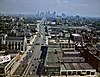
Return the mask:
<svg viewBox="0 0 100 77">
<path fill-rule="evenodd" d="M 27 40 L 26 37 L 7 37 L 6 46 L 9 50 L 26 51 Z"/>
</svg>

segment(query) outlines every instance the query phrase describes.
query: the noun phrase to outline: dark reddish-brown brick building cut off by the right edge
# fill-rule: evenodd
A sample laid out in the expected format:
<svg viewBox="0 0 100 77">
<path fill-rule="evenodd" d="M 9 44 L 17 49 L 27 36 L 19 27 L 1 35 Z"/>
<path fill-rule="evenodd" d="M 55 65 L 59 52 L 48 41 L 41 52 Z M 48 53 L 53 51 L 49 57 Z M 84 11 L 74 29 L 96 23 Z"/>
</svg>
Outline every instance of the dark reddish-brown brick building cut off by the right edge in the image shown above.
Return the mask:
<svg viewBox="0 0 100 77">
<path fill-rule="evenodd" d="M 83 56 L 86 62 L 100 72 L 100 50 L 94 46 L 87 45 L 87 48 L 84 49 Z"/>
</svg>

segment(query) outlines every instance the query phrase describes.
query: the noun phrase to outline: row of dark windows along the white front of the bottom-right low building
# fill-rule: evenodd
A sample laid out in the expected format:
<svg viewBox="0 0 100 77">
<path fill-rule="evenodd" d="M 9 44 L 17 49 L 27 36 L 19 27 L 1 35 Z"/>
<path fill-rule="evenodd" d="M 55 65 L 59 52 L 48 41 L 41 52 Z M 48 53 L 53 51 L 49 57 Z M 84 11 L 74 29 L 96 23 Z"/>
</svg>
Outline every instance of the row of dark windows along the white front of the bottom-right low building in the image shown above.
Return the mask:
<svg viewBox="0 0 100 77">
<path fill-rule="evenodd" d="M 68 71 L 68 72 L 61 72 L 61 75 L 95 75 L 95 72 L 90 71 Z"/>
</svg>

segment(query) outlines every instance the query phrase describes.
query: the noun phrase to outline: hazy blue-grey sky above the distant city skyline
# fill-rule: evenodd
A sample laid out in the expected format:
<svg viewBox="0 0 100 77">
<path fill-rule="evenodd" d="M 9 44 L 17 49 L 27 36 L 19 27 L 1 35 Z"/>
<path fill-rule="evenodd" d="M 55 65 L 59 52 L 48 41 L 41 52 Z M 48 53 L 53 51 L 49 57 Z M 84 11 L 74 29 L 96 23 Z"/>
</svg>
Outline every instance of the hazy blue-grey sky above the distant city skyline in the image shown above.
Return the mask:
<svg viewBox="0 0 100 77">
<path fill-rule="evenodd" d="M 38 11 L 100 17 L 100 0 L 0 0 L 0 13 L 33 14 Z"/>
</svg>

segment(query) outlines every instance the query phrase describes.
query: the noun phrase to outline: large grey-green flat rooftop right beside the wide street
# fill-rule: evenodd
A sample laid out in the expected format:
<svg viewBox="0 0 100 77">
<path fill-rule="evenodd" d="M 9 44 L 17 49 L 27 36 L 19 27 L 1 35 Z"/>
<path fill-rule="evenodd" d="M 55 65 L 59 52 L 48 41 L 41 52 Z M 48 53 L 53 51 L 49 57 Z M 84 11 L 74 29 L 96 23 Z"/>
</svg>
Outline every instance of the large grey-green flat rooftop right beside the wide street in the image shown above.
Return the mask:
<svg viewBox="0 0 100 77">
<path fill-rule="evenodd" d="M 55 53 L 55 51 L 57 53 Z M 45 65 L 47 67 L 59 67 L 59 60 L 61 59 L 61 50 L 60 48 L 48 48 L 48 53 L 45 60 Z"/>
</svg>

